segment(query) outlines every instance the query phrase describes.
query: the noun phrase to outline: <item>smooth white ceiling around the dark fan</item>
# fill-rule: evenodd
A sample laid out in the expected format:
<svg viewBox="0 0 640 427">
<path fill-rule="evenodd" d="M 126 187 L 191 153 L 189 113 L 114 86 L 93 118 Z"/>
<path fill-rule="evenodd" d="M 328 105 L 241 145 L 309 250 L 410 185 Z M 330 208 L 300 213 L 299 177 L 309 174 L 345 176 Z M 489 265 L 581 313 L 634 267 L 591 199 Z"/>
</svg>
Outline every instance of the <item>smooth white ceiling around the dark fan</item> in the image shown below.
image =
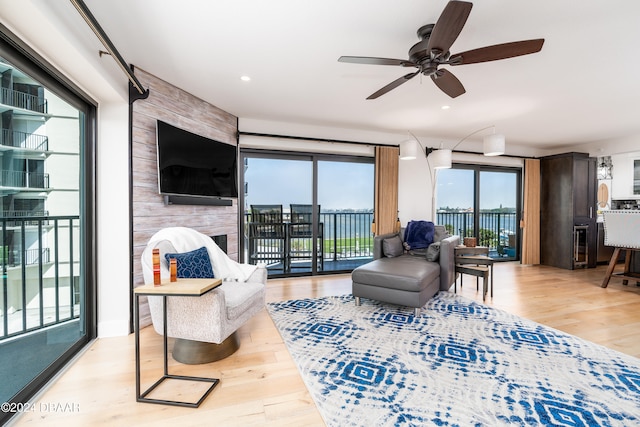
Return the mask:
<svg viewBox="0 0 640 427">
<path fill-rule="evenodd" d="M 446 2 L 85 0 L 128 63 L 241 123 L 411 131 L 454 142 L 496 125 L 508 143 L 540 149 L 640 136 L 637 0 L 477 1 L 452 53 L 533 38 L 545 39 L 542 51 L 447 67 L 467 90 L 455 99 L 418 76 L 366 100 L 411 70 L 338 57 L 407 59 L 416 30 L 435 23 Z"/>
</svg>

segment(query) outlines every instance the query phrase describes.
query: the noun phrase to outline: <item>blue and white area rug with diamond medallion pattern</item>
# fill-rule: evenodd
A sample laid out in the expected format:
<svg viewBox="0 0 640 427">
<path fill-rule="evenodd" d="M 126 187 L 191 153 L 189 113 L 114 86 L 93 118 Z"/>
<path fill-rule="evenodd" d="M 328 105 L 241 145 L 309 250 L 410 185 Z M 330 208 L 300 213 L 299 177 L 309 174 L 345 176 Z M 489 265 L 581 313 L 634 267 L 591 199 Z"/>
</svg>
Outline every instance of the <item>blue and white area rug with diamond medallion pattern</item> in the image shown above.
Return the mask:
<svg viewBox="0 0 640 427">
<path fill-rule="evenodd" d="M 637 426 L 640 359 L 440 292 L 268 304 L 328 426 Z"/>
</svg>

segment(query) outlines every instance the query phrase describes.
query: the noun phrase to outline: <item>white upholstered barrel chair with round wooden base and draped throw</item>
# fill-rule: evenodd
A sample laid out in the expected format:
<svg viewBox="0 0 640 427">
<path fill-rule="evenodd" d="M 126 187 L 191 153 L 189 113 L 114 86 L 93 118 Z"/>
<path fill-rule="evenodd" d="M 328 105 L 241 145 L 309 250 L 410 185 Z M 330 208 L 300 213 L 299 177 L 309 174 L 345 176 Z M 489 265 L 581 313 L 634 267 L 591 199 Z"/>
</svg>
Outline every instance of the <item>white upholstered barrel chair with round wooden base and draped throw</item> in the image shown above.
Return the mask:
<svg viewBox="0 0 640 427">
<path fill-rule="evenodd" d="M 169 279 L 166 253 L 206 247 L 216 278 L 223 283 L 200 297 L 167 298 L 167 336 L 176 338 L 173 358 L 187 364 L 223 359 L 238 349 L 236 331 L 265 306 L 267 271 L 230 259 L 213 239 L 186 227 L 170 227 L 154 234 L 142 253 L 145 283 L 153 283 L 152 251 L 160 249 L 160 273 Z M 149 296 L 151 321 L 163 333 L 162 297 Z"/>
</svg>

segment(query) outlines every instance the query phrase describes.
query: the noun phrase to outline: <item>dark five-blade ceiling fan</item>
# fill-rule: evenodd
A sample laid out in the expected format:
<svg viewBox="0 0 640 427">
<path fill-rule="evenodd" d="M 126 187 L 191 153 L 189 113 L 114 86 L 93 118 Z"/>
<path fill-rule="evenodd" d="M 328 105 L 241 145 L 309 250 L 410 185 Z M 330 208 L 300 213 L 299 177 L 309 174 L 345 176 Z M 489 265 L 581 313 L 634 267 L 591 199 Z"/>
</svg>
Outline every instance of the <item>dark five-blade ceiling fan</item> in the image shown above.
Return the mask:
<svg viewBox="0 0 640 427">
<path fill-rule="evenodd" d="M 418 37 L 421 41 L 409 49 L 409 59 L 341 56 L 338 61 L 371 65 L 399 65 L 418 69 L 418 71 L 392 81 L 369 95 L 367 99 L 376 99 L 408 82 L 420 73 L 430 76 L 440 90 L 455 98 L 465 93 L 464 86 L 448 70 L 438 69 L 440 65 L 457 66 L 497 61 L 499 59 L 513 58 L 514 56 L 528 55 L 539 52 L 542 49 L 544 39 L 534 39 L 496 44 L 451 55 L 449 48 L 458 38 L 464 24 L 467 22 L 472 6 L 472 3 L 456 0 L 451 0 L 447 3 L 435 24 L 424 25 L 418 29 Z"/>
</svg>

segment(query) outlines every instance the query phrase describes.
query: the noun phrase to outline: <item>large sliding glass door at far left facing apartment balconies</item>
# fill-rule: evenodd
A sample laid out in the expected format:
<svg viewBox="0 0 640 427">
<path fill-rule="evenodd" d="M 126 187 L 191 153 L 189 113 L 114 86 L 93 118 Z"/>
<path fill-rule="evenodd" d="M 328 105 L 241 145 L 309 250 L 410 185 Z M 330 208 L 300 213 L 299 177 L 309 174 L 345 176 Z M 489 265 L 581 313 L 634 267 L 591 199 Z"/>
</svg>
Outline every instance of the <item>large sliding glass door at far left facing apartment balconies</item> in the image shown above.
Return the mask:
<svg viewBox="0 0 640 427">
<path fill-rule="evenodd" d="M 0 37 L 0 412 L 95 337 L 95 108 Z M 42 64 L 39 60 L 37 64 Z M 12 407 L 12 406 L 9 406 Z"/>
</svg>

